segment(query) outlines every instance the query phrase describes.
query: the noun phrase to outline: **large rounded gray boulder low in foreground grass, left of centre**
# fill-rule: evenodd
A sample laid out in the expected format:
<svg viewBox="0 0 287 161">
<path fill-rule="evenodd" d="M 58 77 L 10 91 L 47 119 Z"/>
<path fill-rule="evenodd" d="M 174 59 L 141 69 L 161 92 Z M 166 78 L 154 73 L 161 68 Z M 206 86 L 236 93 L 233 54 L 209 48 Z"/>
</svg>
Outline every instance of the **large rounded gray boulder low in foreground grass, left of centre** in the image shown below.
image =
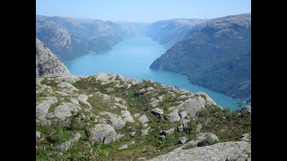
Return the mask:
<svg viewBox="0 0 287 161">
<path fill-rule="evenodd" d="M 94 127 L 86 130 L 88 134 L 88 140 L 91 142 L 101 141 L 104 144 L 109 144 L 112 141 L 117 140 L 117 132 L 109 124 L 96 124 Z"/>
</svg>

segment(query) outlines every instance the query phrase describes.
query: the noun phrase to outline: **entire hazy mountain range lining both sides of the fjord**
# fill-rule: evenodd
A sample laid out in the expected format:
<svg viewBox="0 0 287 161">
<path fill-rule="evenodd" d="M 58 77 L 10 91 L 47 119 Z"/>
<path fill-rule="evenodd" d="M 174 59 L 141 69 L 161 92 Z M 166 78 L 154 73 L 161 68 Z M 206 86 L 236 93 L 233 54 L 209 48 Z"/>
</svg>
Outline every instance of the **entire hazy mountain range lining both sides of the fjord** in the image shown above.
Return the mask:
<svg viewBox="0 0 287 161">
<path fill-rule="evenodd" d="M 178 72 L 191 82 L 251 102 L 251 13 L 153 23 L 36 15 L 36 36 L 61 61 L 107 51 L 144 35 L 170 47 L 151 68 Z"/>
</svg>

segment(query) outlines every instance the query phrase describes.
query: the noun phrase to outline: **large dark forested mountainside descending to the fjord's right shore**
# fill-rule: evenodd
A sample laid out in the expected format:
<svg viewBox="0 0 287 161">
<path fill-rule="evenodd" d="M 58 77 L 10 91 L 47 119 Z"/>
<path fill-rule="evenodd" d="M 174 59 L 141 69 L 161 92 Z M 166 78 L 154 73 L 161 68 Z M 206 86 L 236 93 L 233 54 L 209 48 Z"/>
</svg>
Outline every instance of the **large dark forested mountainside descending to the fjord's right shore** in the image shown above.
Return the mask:
<svg viewBox="0 0 287 161">
<path fill-rule="evenodd" d="M 185 74 L 195 84 L 250 103 L 251 13 L 196 25 L 151 68 Z"/>
</svg>

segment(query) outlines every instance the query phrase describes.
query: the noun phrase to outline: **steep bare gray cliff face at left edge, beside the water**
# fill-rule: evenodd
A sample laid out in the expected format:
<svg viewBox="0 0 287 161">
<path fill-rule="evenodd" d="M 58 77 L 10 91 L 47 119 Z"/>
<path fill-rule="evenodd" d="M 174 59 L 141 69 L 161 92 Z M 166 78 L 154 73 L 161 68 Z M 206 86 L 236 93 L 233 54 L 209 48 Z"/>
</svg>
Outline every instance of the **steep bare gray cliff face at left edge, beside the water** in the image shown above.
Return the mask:
<svg viewBox="0 0 287 161">
<path fill-rule="evenodd" d="M 54 73 L 69 74 L 70 72 L 57 56 L 36 38 L 36 77 Z"/>
</svg>

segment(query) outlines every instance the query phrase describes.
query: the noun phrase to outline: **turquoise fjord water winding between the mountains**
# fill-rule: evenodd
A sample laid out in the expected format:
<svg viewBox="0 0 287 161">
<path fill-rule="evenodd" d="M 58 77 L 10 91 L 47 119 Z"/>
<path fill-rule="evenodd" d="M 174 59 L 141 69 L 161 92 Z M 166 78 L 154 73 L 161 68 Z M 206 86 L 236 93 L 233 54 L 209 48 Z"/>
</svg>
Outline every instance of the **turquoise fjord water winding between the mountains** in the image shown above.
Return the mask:
<svg viewBox="0 0 287 161">
<path fill-rule="evenodd" d="M 191 84 L 187 76 L 174 73 L 153 71 L 149 67 L 167 47 L 162 46 L 151 38 L 135 37 L 118 43 L 112 50 L 100 54 L 83 55 L 72 61 L 64 62 L 74 75 L 91 75 L 97 72 L 121 74 L 125 77 L 152 79 L 168 86 L 177 86 L 192 92 L 204 91 L 222 107 L 236 109 L 238 101 L 213 92 L 200 86 Z"/>
</svg>

